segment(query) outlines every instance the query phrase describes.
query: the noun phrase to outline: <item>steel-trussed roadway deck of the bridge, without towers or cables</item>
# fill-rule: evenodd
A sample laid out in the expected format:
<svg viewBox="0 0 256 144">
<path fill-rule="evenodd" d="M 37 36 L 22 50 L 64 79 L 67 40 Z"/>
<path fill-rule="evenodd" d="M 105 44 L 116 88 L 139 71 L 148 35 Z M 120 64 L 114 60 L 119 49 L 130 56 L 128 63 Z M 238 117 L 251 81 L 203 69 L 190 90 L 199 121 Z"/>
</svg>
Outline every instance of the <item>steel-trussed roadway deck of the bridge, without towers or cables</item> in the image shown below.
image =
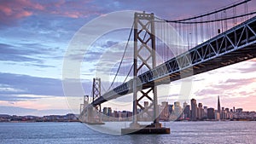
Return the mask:
<svg viewBox="0 0 256 144">
<path fill-rule="evenodd" d="M 256 16 L 212 37 L 207 42 L 167 60 L 160 66 L 137 77 L 138 89 L 148 89 L 160 84 L 169 84 L 202 72 L 229 66 L 256 57 Z M 90 106 L 132 93 L 134 79 L 108 91 Z"/>
</svg>

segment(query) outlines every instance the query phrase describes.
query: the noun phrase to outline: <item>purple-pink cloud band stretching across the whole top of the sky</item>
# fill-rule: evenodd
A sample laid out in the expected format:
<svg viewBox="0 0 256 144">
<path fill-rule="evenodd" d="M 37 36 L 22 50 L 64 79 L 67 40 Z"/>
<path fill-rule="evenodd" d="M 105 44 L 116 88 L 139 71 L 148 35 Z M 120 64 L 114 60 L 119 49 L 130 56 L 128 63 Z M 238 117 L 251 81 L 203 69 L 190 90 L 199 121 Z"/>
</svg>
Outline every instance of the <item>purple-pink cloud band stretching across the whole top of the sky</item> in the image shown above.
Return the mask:
<svg viewBox="0 0 256 144">
<path fill-rule="evenodd" d="M 233 3 L 232 1 L 221 1 L 211 3 L 199 0 L 188 1 L 102 1 L 77 0 L 77 1 L 31 1 L 31 0 L 9 0 L 0 2 L 0 25 L 14 24 L 16 20 L 32 15 L 58 15 L 72 19 L 87 18 L 93 15 L 102 15 L 119 10 L 141 10 L 154 12 L 167 19 L 173 17 L 188 17 L 191 14 L 201 14 L 210 10 L 218 9 L 224 5 Z M 152 7 L 154 5 L 154 7 Z M 143 7 L 141 7 L 143 6 Z M 254 3 L 250 3 L 251 8 L 255 8 Z M 172 9 L 170 9 L 172 7 Z M 196 9 L 201 8 L 201 9 Z M 241 7 L 242 9 L 244 7 Z M 250 8 L 250 7 L 249 7 Z M 183 9 L 180 11 L 179 9 Z M 250 10 L 250 9 L 249 9 Z M 237 10 L 242 11 L 243 10 Z"/>
</svg>

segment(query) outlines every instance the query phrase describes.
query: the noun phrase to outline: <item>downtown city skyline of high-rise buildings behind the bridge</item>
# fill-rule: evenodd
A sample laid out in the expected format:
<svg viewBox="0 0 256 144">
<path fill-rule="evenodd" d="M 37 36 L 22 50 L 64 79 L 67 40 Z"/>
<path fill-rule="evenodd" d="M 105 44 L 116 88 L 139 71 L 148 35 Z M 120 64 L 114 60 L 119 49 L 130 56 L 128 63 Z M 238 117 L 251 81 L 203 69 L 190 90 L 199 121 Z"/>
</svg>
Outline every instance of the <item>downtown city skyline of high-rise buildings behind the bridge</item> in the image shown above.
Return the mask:
<svg viewBox="0 0 256 144">
<path fill-rule="evenodd" d="M 153 118 L 153 108 L 148 107 L 148 101 L 144 101 L 144 110 L 138 109 L 137 115 L 139 121 L 151 121 Z M 256 112 L 244 112 L 242 108 L 225 108 L 220 107 L 218 97 L 218 109 L 206 107 L 202 103 L 190 100 L 190 105 L 183 102 L 183 107 L 179 101 L 174 104 L 168 104 L 167 101 L 161 102 L 158 106 L 160 121 L 198 121 L 198 120 L 256 120 Z M 147 110 L 147 111 L 145 111 Z M 103 121 L 122 121 L 131 120 L 132 112 L 112 111 L 111 107 L 103 107 Z"/>
</svg>

